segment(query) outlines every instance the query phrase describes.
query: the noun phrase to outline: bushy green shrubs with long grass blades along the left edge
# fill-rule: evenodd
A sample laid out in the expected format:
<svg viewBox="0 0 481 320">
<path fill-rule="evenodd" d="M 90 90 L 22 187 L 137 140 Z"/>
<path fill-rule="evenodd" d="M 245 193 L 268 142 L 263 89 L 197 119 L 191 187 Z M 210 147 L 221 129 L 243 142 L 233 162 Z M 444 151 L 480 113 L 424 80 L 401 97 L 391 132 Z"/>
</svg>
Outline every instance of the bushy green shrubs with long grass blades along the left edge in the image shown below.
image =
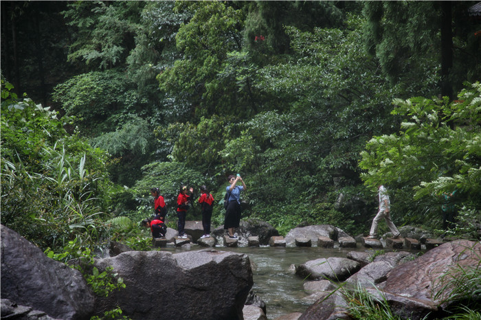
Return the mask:
<svg viewBox="0 0 481 320">
<path fill-rule="evenodd" d="M 11 88 L 2 85 L 1 223 L 44 249 L 80 235 L 97 242 L 107 231 L 98 223 L 109 205 L 106 155 Z"/>
</svg>

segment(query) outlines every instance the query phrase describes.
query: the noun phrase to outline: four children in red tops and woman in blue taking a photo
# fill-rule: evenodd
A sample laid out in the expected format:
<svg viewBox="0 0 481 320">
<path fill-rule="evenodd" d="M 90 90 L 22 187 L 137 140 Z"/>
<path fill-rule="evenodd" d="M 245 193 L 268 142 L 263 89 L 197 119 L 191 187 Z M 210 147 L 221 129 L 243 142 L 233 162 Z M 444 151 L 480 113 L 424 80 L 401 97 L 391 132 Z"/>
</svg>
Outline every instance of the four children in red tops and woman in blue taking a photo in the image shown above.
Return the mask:
<svg viewBox="0 0 481 320">
<path fill-rule="evenodd" d="M 229 185 L 226 187 L 227 207 L 225 212 L 224 229 L 227 230 L 229 237 L 236 239 L 234 235 L 234 228 L 238 228 L 240 224 L 240 192 L 246 189 L 245 183 L 240 177 L 230 175 L 227 178 Z M 241 185 L 236 185 L 240 181 Z M 210 194 L 205 185 L 200 187 L 201 196 L 199 203 L 202 207 L 202 227 L 203 236 L 201 238 L 210 237 L 210 225 L 212 218 L 212 204 L 214 203 L 214 196 Z M 153 187 L 150 194 L 154 197 L 154 217 L 152 219 L 142 220 L 144 227 L 150 227 L 153 238 L 164 238 L 167 231 L 166 214 L 167 208 L 164 197 L 159 194 L 159 188 Z M 179 231 L 179 239 L 187 239 L 185 233 L 186 214 L 192 203 L 194 203 L 194 188 L 182 185 L 177 196 L 177 229 Z"/>
</svg>

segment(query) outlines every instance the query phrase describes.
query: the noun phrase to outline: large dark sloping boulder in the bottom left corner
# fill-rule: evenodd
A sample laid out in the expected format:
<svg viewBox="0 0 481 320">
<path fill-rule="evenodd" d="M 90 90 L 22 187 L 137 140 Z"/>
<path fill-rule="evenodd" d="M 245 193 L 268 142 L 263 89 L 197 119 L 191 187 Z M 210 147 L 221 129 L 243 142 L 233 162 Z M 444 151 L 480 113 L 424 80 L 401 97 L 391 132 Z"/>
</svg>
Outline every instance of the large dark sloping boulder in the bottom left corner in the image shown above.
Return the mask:
<svg viewBox="0 0 481 320">
<path fill-rule="evenodd" d="M 1 299 L 56 319 L 89 319 L 94 298 L 79 271 L 1 225 Z"/>
</svg>

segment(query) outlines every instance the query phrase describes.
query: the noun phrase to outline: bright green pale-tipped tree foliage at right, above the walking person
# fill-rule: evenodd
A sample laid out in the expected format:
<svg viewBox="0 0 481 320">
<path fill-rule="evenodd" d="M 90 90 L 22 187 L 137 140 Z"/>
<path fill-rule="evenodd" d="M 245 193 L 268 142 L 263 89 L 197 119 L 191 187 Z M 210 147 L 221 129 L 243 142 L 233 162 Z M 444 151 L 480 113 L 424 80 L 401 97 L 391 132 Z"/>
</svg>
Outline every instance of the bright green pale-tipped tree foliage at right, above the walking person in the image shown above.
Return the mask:
<svg viewBox="0 0 481 320">
<path fill-rule="evenodd" d="M 454 190 L 461 212 L 479 220 L 480 84 L 467 84 L 454 102 L 412 98 L 394 104 L 393 113 L 405 122 L 399 134 L 374 137 L 366 145 L 359 164 L 365 184 L 390 186 L 394 210 L 407 212 L 411 222 L 423 223 L 426 215 L 438 221 L 439 211 L 430 210 L 440 207 L 443 192 Z"/>
</svg>

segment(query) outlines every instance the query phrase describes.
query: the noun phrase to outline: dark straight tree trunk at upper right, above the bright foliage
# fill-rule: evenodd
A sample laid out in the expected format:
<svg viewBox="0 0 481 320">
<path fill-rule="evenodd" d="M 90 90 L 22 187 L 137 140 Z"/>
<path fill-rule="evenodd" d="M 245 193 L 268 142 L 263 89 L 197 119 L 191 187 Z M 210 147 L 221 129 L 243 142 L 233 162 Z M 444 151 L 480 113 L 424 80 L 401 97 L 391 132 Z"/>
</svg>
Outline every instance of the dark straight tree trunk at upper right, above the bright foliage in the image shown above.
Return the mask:
<svg viewBox="0 0 481 320">
<path fill-rule="evenodd" d="M 441 95 L 453 100 L 453 86 L 449 73 L 453 67 L 452 3 L 440 1 L 441 5 Z"/>
</svg>

